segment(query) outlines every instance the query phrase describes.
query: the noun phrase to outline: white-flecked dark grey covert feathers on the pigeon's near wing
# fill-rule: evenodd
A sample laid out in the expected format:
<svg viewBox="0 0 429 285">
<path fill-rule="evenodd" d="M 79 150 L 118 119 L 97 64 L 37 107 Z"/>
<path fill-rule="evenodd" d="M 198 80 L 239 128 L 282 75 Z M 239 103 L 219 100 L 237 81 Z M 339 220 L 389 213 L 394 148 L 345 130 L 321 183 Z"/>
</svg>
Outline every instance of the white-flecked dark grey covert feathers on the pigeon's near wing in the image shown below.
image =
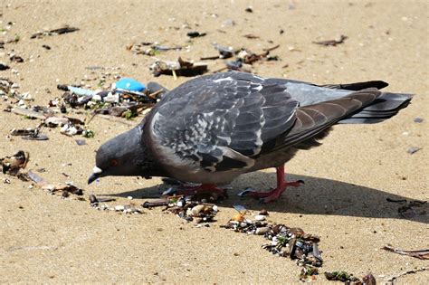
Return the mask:
<svg viewBox="0 0 429 285">
<path fill-rule="evenodd" d="M 157 104 L 151 128 L 167 154 L 207 171 L 251 167 L 262 145 L 295 122 L 286 87 L 227 72 L 187 81 Z"/>
</svg>

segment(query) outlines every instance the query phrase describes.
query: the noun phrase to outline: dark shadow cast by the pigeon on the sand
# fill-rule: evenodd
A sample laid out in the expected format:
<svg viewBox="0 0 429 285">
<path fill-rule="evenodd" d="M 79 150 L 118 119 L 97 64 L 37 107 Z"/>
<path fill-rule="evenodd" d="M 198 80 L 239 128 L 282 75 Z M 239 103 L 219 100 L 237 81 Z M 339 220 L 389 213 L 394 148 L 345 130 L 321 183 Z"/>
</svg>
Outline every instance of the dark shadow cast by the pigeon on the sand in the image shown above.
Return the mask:
<svg viewBox="0 0 429 285">
<path fill-rule="evenodd" d="M 288 187 L 281 198 L 270 204 L 261 204 L 252 197 L 239 197 L 237 194 L 247 187 L 257 190 L 269 190 L 275 184 L 275 174 L 253 172 L 240 176 L 230 185 L 229 197 L 222 204 L 232 207 L 242 204 L 249 210 L 258 211 L 265 208 L 269 211 L 292 214 L 328 214 L 367 218 L 402 218 L 419 223 L 429 223 L 429 205 L 416 204 L 411 210 L 400 215 L 398 209 L 413 197 L 393 195 L 382 190 L 353 185 L 346 182 L 329 180 L 312 176 L 288 175 L 288 180 L 303 180 L 305 185 L 298 188 Z M 162 191 L 171 185 L 156 185 L 129 192 L 110 194 L 112 196 L 136 198 L 158 198 Z M 174 186 L 173 186 L 174 187 Z M 389 202 L 388 200 L 406 200 L 407 202 Z"/>
</svg>

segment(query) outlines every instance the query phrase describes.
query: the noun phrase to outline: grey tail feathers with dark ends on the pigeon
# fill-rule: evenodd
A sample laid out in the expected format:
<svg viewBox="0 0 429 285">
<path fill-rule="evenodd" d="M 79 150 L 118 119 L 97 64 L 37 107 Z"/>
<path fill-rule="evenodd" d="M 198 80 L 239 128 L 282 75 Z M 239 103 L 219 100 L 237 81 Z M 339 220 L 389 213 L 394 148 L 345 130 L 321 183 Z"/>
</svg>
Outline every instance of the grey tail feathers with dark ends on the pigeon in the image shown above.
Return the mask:
<svg viewBox="0 0 429 285">
<path fill-rule="evenodd" d="M 339 124 L 374 124 L 395 116 L 400 109 L 404 109 L 413 98 L 412 94 L 382 93 L 364 109 L 359 109 Z"/>
</svg>

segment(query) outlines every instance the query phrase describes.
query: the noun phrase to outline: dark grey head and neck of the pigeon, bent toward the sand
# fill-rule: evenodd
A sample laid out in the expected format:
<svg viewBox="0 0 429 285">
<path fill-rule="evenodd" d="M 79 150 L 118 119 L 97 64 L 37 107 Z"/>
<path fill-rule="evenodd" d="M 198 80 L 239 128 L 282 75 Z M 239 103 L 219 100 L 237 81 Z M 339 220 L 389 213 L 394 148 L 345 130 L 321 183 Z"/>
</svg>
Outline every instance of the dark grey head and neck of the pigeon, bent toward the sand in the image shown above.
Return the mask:
<svg viewBox="0 0 429 285">
<path fill-rule="evenodd" d="M 140 166 L 144 160 L 144 146 L 141 145 L 140 126 L 111 138 L 104 143 L 95 157 L 95 166 L 88 184 L 103 176 L 141 176 L 144 169 Z"/>
</svg>

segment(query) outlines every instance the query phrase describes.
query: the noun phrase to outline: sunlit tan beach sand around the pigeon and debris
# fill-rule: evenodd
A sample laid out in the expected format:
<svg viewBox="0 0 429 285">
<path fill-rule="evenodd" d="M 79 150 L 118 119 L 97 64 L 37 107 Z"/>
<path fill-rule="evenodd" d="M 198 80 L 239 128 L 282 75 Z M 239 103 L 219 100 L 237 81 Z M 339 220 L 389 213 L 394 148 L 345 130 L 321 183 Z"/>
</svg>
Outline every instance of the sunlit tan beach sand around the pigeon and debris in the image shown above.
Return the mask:
<svg viewBox="0 0 429 285">
<path fill-rule="evenodd" d="M 244 11 L 247 5 L 253 6 L 252 14 Z M 99 76 L 100 71 L 92 74 L 88 66 L 119 67 L 120 76 L 175 88 L 188 79 L 154 78 L 148 70 L 154 58 L 134 55 L 126 46 L 143 41 L 185 44 L 186 33 L 193 30 L 207 35 L 193 39 L 189 51 L 165 52 L 159 58 L 214 55 L 213 42 L 253 52 L 280 44 L 272 54 L 281 61 L 256 63 L 255 73 L 319 84 L 383 80 L 390 84 L 386 90 L 414 93 L 415 98 L 393 119 L 336 126 L 321 147 L 301 151 L 286 169 L 290 179 L 306 184 L 289 189 L 275 203 L 262 205 L 235 195 L 247 186 L 274 185 L 272 169 L 240 177 L 231 185 L 230 198 L 219 204 L 217 222 L 208 228 L 195 228 L 161 209 L 141 215 L 99 212 L 75 197 L 63 200 L 0 175 L 11 179 L 10 185 L 0 185 L 0 282 L 299 282 L 300 267 L 263 250 L 262 237 L 220 228 L 234 214 L 234 204 L 253 213 L 266 208 L 272 222 L 319 234 L 324 257 L 320 272 L 345 270 L 358 277 L 372 272 L 383 283 L 389 276 L 427 266 L 427 261 L 380 248 L 387 243 L 408 250 L 429 247 L 427 214 L 404 219 L 397 214 L 399 205 L 386 201 L 429 198 L 428 8 L 427 1 L 2 1 L 1 26 L 14 22 L 2 38 L 19 35 L 20 41 L 6 43 L 0 51 L 0 60 L 19 74 L 0 71 L 0 77 L 18 83 L 20 92 L 30 92 L 33 104 L 46 105 L 61 96 L 59 83 L 79 84 L 85 76 Z M 223 26 L 227 19 L 235 25 Z M 62 24 L 81 30 L 30 39 L 39 30 Z M 246 33 L 260 39 L 246 39 Z M 311 43 L 339 34 L 348 39 L 336 47 Z M 52 49 L 45 50 L 43 44 Z M 23 63 L 9 62 L 5 53 L 13 50 Z M 224 63 L 209 64 L 215 71 Z M 95 89 L 97 81 L 84 83 Z M 0 102 L 0 108 L 7 104 Z M 416 117 L 424 121 L 415 123 Z M 51 182 L 68 180 L 62 176 L 66 173 L 85 189 L 85 197 L 113 196 L 114 205 L 129 204 L 131 195 L 132 203 L 140 204 L 167 187 L 158 178 L 137 177 L 108 177 L 86 185 L 94 151 L 130 128 L 126 125 L 96 118 L 91 122 L 96 137 L 80 147 L 59 129 L 46 130 L 48 141 L 7 140 L 11 128 L 35 127 L 38 122 L 4 111 L 0 122 L 0 157 L 27 150 L 28 169 L 44 167 L 47 172 L 41 175 Z M 408 147 L 422 149 L 410 155 Z M 423 271 L 398 281 L 423 284 L 428 279 L 429 272 Z M 317 280 L 328 282 L 323 275 Z"/>
</svg>

